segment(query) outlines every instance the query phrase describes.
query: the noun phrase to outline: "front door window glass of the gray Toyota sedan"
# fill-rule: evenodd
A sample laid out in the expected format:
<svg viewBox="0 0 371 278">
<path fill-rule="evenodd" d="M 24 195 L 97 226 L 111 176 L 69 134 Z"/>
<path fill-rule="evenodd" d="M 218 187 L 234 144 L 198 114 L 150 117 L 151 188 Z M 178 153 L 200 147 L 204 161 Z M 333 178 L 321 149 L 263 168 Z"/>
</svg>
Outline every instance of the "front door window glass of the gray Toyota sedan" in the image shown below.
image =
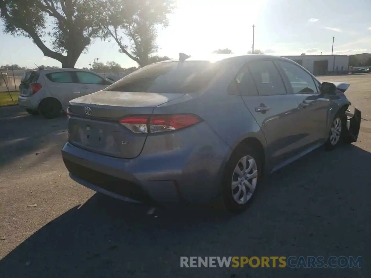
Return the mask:
<svg viewBox="0 0 371 278">
<path fill-rule="evenodd" d="M 278 61 L 278 64 L 285 71 L 294 94 L 318 93 L 312 76 L 305 70 L 289 62 Z"/>
</svg>

